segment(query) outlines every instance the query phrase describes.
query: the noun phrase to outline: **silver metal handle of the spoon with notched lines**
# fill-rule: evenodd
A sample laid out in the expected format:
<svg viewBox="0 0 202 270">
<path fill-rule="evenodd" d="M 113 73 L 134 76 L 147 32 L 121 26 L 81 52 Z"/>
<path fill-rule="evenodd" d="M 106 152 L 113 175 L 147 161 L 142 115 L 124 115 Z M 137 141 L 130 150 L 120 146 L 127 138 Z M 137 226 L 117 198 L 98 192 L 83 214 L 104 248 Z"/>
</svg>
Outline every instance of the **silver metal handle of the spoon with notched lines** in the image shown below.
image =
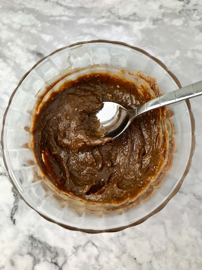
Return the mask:
<svg viewBox="0 0 202 270">
<path fill-rule="evenodd" d="M 200 95 L 202 95 L 202 81 L 187 85 L 178 90 L 169 92 L 163 96 L 149 100 L 148 102 L 131 111 L 131 120 L 142 113 Z"/>
</svg>

